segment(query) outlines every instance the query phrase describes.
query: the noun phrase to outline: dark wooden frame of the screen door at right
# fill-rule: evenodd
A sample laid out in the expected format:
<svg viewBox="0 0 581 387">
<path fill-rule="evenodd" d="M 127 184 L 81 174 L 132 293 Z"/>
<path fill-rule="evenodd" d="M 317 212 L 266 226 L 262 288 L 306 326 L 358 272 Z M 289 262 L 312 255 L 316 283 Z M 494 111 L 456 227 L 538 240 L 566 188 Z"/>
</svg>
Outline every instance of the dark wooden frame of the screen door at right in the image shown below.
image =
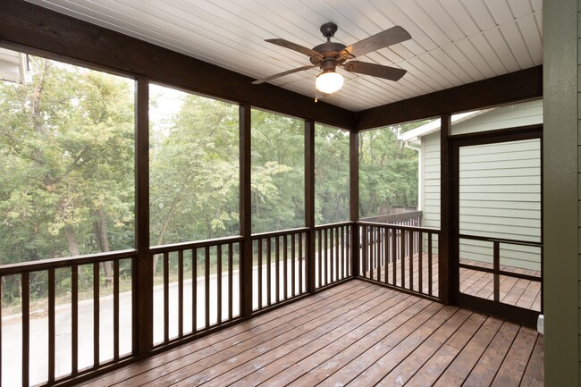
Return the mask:
<svg viewBox="0 0 581 387">
<path fill-rule="evenodd" d="M 500 258 L 498 252 L 501 239 L 491 239 L 494 250 L 493 269 L 480 270 L 487 273 L 493 273 L 494 278 L 494 299 L 482 299 L 476 296 L 464 294 L 459 288 L 459 148 L 484 144 L 498 144 L 509 141 L 518 141 L 525 139 L 539 139 L 541 141 L 541 241 L 540 243 L 528 244 L 541 248 L 541 311 L 534 311 L 524 307 L 516 307 L 509 304 L 503 304 L 498 301 L 500 288 Z M 518 128 L 489 130 L 449 137 L 450 141 L 450 301 L 459 307 L 476 309 L 491 315 L 504 317 L 518 324 L 535 325 L 538 315 L 543 313 L 543 125 L 531 125 Z M 505 242 L 509 240 L 504 240 Z M 526 242 L 522 243 L 527 245 Z M 511 276 L 526 278 L 526 275 L 513 274 Z"/>
</svg>

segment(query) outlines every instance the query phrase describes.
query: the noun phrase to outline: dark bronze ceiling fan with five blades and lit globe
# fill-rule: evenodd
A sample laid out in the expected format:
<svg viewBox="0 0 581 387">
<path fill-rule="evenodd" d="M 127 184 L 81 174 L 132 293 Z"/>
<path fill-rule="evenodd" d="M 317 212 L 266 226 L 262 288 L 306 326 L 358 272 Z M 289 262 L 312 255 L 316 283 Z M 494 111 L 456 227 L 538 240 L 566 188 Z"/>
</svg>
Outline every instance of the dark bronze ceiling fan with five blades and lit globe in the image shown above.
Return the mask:
<svg viewBox="0 0 581 387">
<path fill-rule="evenodd" d="M 400 26 L 386 29 L 369 38 L 358 41 L 351 46 L 345 46 L 341 43 L 332 42 L 331 38 L 337 31 L 337 25 L 333 22 L 324 23 L 321 26 L 321 33 L 327 41 L 321 45 L 315 46 L 312 49 L 305 46 L 300 46 L 285 39 L 275 38 L 266 39 L 268 43 L 277 46 L 290 48 L 298 51 L 301 54 L 307 55 L 310 58 L 310 65 L 292 69 L 286 72 L 279 72 L 270 77 L 252 82 L 257 85 L 268 80 L 274 80 L 284 75 L 292 74 L 294 72 L 302 72 L 315 67 L 319 67 L 321 72 L 316 77 L 316 91 L 324 94 L 331 94 L 339 90 L 343 86 L 343 77 L 340 73 L 335 72 L 337 66 L 347 72 L 356 72 L 358 74 L 371 75 L 385 80 L 400 80 L 406 73 L 403 69 L 395 67 L 383 66 L 381 64 L 359 62 L 354 60 L 356 57 L 366 55 L 372 51 L 383 47 L 392 46 L 396 43 L 403 42 L 411 38 L 408 31 Z"/>
</svg>

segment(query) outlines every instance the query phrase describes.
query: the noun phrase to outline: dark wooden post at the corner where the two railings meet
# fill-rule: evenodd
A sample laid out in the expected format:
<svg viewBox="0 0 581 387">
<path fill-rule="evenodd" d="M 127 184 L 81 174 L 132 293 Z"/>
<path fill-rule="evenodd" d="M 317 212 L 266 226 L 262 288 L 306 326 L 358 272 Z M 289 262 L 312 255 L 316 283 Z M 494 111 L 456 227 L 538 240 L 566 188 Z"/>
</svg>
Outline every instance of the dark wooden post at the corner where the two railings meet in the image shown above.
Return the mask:
<svg viewBox="0 0 581 387">
<path fill-rule="evenodd" d="M 351 222 L 359 220 L 359 134 L 353 130 L 349 136 L 349 213 Z M 351 232 L 351 275 L 359 275 L 359 227 L 353 224 Z"/>
</svg>

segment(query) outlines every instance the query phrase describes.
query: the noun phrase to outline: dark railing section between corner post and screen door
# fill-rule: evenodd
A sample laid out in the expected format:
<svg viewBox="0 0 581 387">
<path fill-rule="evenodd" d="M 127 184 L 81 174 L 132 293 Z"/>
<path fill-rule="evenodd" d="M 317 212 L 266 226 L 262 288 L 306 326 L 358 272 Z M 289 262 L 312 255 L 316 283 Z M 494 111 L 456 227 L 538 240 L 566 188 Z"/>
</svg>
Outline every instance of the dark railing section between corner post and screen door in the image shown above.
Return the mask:
<svg viewBox="0 0 581 387">
<path fill-rule="evenodd" d="M 358 222 L 358 276 L 438 298 L 437 240 L 440 231 Z"/>
</svg>

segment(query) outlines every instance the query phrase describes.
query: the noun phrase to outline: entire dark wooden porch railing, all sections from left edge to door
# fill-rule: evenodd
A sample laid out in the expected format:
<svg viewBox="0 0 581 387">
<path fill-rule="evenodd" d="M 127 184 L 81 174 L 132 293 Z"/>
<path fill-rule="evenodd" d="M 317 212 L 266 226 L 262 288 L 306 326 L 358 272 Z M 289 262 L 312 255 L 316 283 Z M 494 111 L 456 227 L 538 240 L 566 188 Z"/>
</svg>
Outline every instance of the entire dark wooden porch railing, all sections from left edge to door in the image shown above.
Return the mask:
<svg viewBox="0 0 581 387">
<path fill-rule="evenodd" d="M 0 384 L 80 380 L 131 362 L 138 355 L 143 332 L 137 318 L 141 297 L 152 299 L 152 351 L 355 276 L 435 298 L 433 240 L 437 235 L 437 231 L 408 226 L 346 222 L 254 234 L 248 239 L 236 236 L 153 247 L 144 256 L 154 270 L 153 294 L 147 296 L 138 291 L 137 250 L 0 266 L 1 278 L 21 282 L 20 315 L 2 318 L 0 312 L 0 348 L 4 349 L 0 367 L 10 368 Z M 252 243 L 251 257 L 244 257 L 247 240 Z M 418 261 L 418 255 L 423 259 Z M 245 258 L 252 260 L 248 278 L 241 275 Z M 103 274 L 104 263 L 112 267 L 110 278 Z M 63 271 L 70 278 L 65 296 L 57 282 Z M 88 273 L 88 279 L 83 273 Z M 37 297 L 37 293 L 30 287 L 38 275 L 46 277 L 42 280 L 46 315 L 41 317 L 32 315 L 31 306 L 31 295 Z M 242 293 L 248 281 L 252 307 L 249 315 L 242 315 L 247 310 L 243 303 L 248 302 L 248 294 L 243 297 Z M 38 297 L 34 302 L 39 302 Z M 61 321 L 63 313 L 70 315 L 66 323 Z M 35 327 L 43 322 L 46 332 L 37 337 Z M 8 353 L 7 338 L 13 345 L 14 327 L 21 332 L 21 352 Z M 46 349 L 35 342 L 47 342 Z M 46 355 L 38 355 L 39 349 Z"/>
</svg>

